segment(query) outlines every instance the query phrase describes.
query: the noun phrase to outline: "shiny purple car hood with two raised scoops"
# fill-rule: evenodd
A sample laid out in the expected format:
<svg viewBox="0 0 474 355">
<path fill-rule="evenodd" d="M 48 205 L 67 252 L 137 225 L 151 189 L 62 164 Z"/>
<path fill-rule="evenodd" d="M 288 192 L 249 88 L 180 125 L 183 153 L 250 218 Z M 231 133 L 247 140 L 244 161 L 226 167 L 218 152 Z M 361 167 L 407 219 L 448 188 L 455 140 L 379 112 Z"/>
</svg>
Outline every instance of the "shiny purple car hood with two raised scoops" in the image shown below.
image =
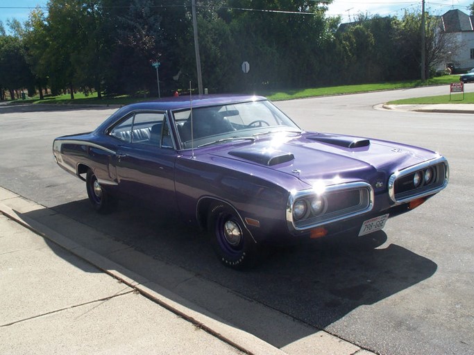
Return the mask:
<svg viewBox="0 0 474 355">
<path fill-rule="evenodd" d="M 387 182 L 395 171 L 437 157 L 430 150 L 390 141 L 310 132 L 212 154 L 294 175 L 312 186 L 318 180 Z"/>
</svg>

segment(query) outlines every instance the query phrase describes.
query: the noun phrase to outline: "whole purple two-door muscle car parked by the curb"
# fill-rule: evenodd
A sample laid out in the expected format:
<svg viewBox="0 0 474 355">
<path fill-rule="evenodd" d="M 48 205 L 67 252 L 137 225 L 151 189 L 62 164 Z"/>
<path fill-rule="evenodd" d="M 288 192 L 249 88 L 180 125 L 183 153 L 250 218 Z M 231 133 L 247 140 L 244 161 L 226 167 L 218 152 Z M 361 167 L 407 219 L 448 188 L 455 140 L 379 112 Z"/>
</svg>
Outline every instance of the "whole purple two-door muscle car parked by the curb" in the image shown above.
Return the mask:
<svg viewBox="0 0 474 355">
<path fill-rule="evenodd" d="M 232 268 L 251 266 L 265 243 L 381 230 L 448 184 L 437 153 L 305 132 L 260 96 L 128 105 L 55 139 L 53 153 L 97 211 L 119 198 L 173 211 L 208 230 Z"/>
</svg>

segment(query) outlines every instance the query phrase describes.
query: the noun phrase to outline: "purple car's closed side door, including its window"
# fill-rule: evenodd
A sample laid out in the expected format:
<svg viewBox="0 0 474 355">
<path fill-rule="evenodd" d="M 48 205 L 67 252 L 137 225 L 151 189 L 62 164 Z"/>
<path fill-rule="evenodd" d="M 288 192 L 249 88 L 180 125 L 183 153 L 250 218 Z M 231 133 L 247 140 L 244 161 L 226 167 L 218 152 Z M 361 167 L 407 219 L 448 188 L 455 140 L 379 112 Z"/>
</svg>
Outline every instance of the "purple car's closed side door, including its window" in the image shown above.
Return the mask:
<svg viewBox="0 0 474 355">
<path fill-rule="evenodd" d="M 117 149 L 115 162 L 119 194 L 153 207 L 175 210 L 176 150 L 166 114 L 134 112 L 124 122 L 129 130 L 119 132 L 126 139 Z"/>
</svg>

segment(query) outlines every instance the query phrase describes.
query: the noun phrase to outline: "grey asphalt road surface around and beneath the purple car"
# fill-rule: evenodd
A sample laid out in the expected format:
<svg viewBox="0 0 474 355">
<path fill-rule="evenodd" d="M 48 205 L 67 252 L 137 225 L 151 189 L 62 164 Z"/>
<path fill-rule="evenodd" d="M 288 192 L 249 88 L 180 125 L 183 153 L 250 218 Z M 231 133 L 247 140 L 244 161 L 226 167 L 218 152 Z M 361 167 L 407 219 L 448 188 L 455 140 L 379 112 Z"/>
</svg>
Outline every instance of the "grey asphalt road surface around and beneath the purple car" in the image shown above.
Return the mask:
<svg viewBox="0 0 474 355">
<path fill-rule="evenodd" d="M 115 214 L 94 214 L 83 182 L 53 162 L 51 144 L 59 135 L 92 130 L 115 109 L 0 107 L 0 186 L 373 352 L 474 354 L 473 116 L 376 108 L 435 94 L 448 94 L 448 88 L 279 102 L 306 130 L 438 150 L 450 163 L 450 184 L 418 209 L 389 220 L 384 232 L 271 250 L 251 272 L 220 266 L 201 233 L 160 211 L 121 205 Z M 280 338 L 264 329 L 255 334 L 278 347 L 301 338 L 291 329 Z"/>
</svg>

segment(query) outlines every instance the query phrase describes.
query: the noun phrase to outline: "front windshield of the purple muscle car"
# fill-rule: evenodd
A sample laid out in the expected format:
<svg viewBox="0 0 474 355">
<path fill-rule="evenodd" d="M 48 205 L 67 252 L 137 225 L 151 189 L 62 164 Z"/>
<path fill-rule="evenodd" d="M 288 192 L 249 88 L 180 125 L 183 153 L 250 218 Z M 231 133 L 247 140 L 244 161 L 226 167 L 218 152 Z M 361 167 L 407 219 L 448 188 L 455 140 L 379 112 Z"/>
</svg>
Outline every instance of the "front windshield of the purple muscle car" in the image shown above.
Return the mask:
<svg viewBox="0 0 474 355">
<path fill-rule="evenodd" d="M 173 112 L 183 149 L 238 139 L 256 139 L 274 132 L 301 129 L 269 101 L 251 101 Z"/>
</svg>

